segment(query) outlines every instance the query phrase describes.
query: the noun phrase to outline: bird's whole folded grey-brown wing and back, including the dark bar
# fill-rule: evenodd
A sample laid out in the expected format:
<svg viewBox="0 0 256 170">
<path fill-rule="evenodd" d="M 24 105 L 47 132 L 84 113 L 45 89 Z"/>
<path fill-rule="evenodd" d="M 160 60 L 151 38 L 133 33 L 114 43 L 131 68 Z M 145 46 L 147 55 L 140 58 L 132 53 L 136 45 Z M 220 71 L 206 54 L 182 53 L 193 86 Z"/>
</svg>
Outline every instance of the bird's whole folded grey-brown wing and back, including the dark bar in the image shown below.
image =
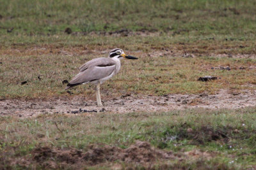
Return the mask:
<svg viewBox="0 0 256 170">
<path fill-rule="evenodd" d="M 72 78 L 66 89 L 109 76 L 115 71 L 115 64 L 115 61 L 108 58 L 98 58 L 86 62 L 79 68 L 80 72 Z"/>
</svg>

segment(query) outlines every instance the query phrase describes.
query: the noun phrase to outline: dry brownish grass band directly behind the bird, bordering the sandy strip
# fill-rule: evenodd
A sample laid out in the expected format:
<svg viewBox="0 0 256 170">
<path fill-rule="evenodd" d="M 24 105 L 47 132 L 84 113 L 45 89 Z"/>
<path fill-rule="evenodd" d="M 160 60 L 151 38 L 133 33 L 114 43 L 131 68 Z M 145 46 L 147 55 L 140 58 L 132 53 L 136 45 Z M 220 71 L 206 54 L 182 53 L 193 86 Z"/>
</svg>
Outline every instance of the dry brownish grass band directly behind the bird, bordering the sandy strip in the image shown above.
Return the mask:
<svg viewBox="0 0 256 170">
<path fill-rule="evenodd" d="M 37 50 L 36 52 L 39 52 Z M 72 53 L 80 51 L 73 51 Z M 69 53 L 69 52 L 67 52 Z M 77 74 L 77 67 L 86 60 L 97 57 L 96 54 L 56 55 L 55 53 L 26 56 L 3 55 L 0 78 L 2 98 L 35 98 L 67 96 L 63 80 L 70 80 Z M 220 89 L 253 90 L 255 89 L 254 59 L 218 59 L 214 57 L 183 58 L 162 56 L 148 57 L 143 52 L 127 52 L 140 58 L 139 62 L 123 60 L 119 74 L 103 84 L 107 90 L 103 95 L 120 96 L 120 93 L 150 94 L 214 94 Z M 107 54 L 104 54 L 107 55 Z M 172 55 L 172 53 L 170 53 Z M 231 70 L 221 70 L 220 66 L 230 66 Z M 216 69 L 212 69 L 216 67 Z M 245 69 L 240 69 L 244 67 Z M 219 68 L 219 69 L 218 69 Z M 200 76 L 217 76 L 211 82 L 197 81 Z M 40 76 L 40 78 L 38 78 Z M 6 79 L 7 78 L 7 79 Z M 22 81 L 28 81 L 21 85 Z M 72 90 L 75 95 L 90 96 L 93 88 L 88 85 Z"/>
</svg>

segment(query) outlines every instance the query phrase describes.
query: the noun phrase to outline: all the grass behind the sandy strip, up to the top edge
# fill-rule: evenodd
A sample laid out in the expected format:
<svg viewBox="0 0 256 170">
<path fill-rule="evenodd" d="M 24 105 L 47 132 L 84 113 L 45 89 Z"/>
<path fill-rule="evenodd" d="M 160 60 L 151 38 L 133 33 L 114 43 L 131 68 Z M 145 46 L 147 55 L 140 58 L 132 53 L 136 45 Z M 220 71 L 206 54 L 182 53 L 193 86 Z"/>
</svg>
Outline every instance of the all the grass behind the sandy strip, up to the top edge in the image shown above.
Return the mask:
<svg viewBox="0 0 256 170">
<path fill-rule="evenodd" d="M 255 89 L 254 1 L 0 3 L 1 98 L 63 96 L 61 81 L 70 80 L 86 60 L 116 47 L 140 60 L 125 61 L 121 73 L 104 85 L 115 87 L 114 96 L 122 90 L 164 95 Z M 64 32 L 67 27 L 72 34 Z M 181 58 L 184 53 L 196 58 Z M 210 69 L 219 65 L 232 69 Z M 221 80 L 196 81 L 206 75 Z M 22 81 L 28 83 L 21 86 Z M 83 87 L 74 90 L 81 92 Z"/>
</svg>

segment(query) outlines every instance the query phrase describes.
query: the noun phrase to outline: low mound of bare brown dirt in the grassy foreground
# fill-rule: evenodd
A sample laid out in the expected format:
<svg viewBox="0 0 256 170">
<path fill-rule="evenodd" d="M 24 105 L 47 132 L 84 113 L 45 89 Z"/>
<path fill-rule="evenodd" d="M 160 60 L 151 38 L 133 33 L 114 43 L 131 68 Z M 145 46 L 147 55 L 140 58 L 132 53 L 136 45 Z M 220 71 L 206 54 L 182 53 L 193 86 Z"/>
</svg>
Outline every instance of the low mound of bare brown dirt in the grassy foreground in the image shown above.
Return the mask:
<svg viewBox="0 0 256 170">
<path fill-rule="evenodd" d="M 183 160 L 193 157 L 193 159 L 211 157 L 209 153 L 191 150 L 185 153 L 173 153 L 172 151 L 159 150 L 145 141 L 136 141 L 129 148 L 122 149 L 109 145 L 90 145 L 86 152 L 77 149 L 60 149 L 48 146 L 38 147 L 31 151 L 31 156 L 15 162 L 23 166 L 28 166 L 26 162 L 40 164 L 45 168 L 58 168 L 76 166 L 96 166 L 98 164 L 111 163 L 116 161 L 125 162 L 131 166 L 142 165 L 152 167 L 157 161 Z M 122 169 L 122 168 L 121 168 Z"/>
</svg>

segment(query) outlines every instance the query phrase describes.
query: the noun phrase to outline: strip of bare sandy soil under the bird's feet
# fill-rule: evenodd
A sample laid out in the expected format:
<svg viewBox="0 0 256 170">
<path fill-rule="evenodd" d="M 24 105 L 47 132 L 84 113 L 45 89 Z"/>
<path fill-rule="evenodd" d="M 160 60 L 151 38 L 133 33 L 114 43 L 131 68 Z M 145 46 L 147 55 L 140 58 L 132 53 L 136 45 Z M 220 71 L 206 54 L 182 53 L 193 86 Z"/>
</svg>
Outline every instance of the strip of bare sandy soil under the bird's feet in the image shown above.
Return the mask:
<svg viewBox="0 0 256 170">
<path fill-rule="evenodd" d="M 14 115 L 18 117 L 33 117 L 39 114 L 80 114 L 109 111 L 127 113 L 132 111 L 170 111 L 187 108 L 244 108 L 256 106 L 256 90 L 230 92 L 221 90 L 218 94 L 168 96 L 132 96 L 125 95 L 118 98 L 106 99 L 104 106 L 98 107 L 96 100 L 74 96 L 72 99 L 49 99 L 25 101 L 20 99 L 0 101 L 0 115 Z"/>
</svg>

